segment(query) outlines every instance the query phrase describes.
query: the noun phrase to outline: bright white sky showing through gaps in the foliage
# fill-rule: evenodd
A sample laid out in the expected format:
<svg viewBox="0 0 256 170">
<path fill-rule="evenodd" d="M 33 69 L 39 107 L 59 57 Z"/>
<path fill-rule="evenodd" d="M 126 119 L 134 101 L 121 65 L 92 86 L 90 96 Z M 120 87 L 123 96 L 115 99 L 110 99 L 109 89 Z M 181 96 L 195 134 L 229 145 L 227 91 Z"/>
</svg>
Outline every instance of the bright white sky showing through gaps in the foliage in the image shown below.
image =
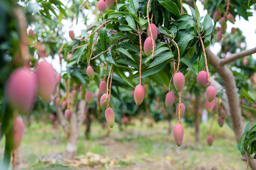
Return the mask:
<svg viewBox="0 0 256 170">
<path fill-rule="evenodd" d="M 35 1 L 35 0 L 32 0 Z M 67 4 L 67 1 L 65 0 L 61 0 L 63 2 L 63 4 L 66 7 L 70 7 L 71 6 L 71 2 Z M 93 0 L 89 0 L 89 2 L 92 2 Z M 183 4 L 183 6 L 186 8 L 186 10 L 188 11 L 188 13 L 191 15 L 191 11 L 189 9 L 189 6 L 187 4 Z M 196 6 L 198 7 L 198 10 L 200 12 L 200 16 L 204 16 L 207 14 L 207 10 L 203 10 L 203 5 L 201 3 L 201 1 L 196 1 Z M 95 6 L 92 7 L 92 9 L 95 9 Z M 256 47 L 256 10 L 250 10 L 251 12 L 253 12 L 253 16 L 249 17 L 249 21 L 246 21 L 243 17 L 241 17 L 239 19 L 239 17 L 237 16 L 235 18 L 235 24 L 232 24 L 231 22 L 227 22 L 227 30 L 226 32 L 231 32 L 231 28 L 239 28 L 242 32 L 244 37 L 246 37 L 246 44 L 247 44 L 247 48 L 246 49 L 251 49 Z M 83 9 L 83 12 L 85 13 L 85 15 L 88 15 L 88 21 L 87 21 L 87 25 L 91 25 L 94 23 L 95 20 L 95 16 L 92 15 L 92 13 L 90 12 L 90 10 L 87 9 Z M 72 41 L 69 37 L 68 32 L 72 29 L 74 31 L 74 35 L 76 37 L 79 37 L 81 35 L 81 29 L 86 29 L 86 25 L 84 25 L 84 20 L 82 17 L 79 17 L 78 19 L 78 23 L 76 25 L 76 21 L 73 21 L 73 23 L 71 22 L 71 20 L 65 20 L 63 19 L 62 21 L 64 27 L 63 27 L 63 32 L 65 32 L 64 37 L 67 38 L 67 41 Z M 30 29 L 30 28 L 28 28 Z M 33 28 L 32 28 L 33 29 Z M 217 54 L 220 51 L 220 44 L 219 43 L 214 43 L 214 45 L 210 46 L 211 51 L 214 54 Z M 256 54 L 253 54 L 253 58 L 256 59 Z M 66 67 L 66 63 L 63 62 L 62 66 L 60 66 L 60 60 L 58 55 L 56 54 L 54 56 L 54 59 L 52 59 L 51 56 L 47 57 L 46 59 L 49 63 L 52 63 L 54 69 L 60 73 L 61 71 L 65 70 Z"/>
</svg>

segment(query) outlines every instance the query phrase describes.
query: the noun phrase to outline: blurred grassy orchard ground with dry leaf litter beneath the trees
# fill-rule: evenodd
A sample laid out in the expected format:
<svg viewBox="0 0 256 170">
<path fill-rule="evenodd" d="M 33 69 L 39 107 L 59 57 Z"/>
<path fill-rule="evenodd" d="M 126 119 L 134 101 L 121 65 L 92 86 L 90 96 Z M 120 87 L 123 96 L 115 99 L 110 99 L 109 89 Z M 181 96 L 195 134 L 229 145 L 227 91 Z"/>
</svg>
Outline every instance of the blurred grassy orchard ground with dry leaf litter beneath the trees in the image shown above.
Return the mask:
<svg viewBox="0 0 256 170">
<path fill-rule="evenodd" d="M 210 120 L 200 125 L 200 146 L 195 146 L 194 128 L 182 123 L 184 138 L 177 147 L 173 134 L 167 134 L 168 123 L 158 122 L 153 127 L 134 120 L 119 130 L 117 124 L 105 136 L 107 129 L 93 122 L 91 136 L 85 139 L 80 131 L 77 156 L 65 160 L 63 153 L 67 141 L 61 126 L 52 129 L 50 123 L 33 122 L 25 132 L 16 150 L 16 170 L 241 170 L 246 162 L 241 160 L 232 129 L 225 124 L 219 127 L 214 121 L 211 135 L 213 146 L 206 143 Z M 177 122 L 174 120 L 172 125 Z M 0 142 L 0 160 L 4 152 L 4 139 Z"/>
</svg>

